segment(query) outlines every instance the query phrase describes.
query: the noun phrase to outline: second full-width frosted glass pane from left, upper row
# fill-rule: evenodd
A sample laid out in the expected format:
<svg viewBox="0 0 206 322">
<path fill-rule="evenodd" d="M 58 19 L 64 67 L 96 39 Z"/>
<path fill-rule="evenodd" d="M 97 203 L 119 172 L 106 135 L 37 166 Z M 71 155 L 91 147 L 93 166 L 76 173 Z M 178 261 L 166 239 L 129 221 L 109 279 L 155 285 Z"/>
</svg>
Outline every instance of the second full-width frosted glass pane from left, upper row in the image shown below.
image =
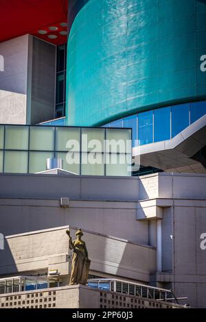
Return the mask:
<svg viewBox="0 0 206 322">
<path fill-rule="evenodd" d="M 54 127 L 30 127 L 30 150 L 54 150 Z"/>
</svg>

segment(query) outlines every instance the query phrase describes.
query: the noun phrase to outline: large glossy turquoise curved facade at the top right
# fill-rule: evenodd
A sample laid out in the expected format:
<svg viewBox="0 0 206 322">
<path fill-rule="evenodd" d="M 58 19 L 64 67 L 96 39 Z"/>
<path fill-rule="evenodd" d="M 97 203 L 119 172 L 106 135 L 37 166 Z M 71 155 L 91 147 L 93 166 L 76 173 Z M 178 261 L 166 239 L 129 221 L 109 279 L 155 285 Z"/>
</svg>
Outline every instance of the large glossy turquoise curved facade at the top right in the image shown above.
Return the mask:
<svg viewBox="0 0 206 322">
<path fill-rule="evenodd" d="M 67 125 L 205 99 L 206 1 L 80 2 L 69 1 Z"/>
</svg>

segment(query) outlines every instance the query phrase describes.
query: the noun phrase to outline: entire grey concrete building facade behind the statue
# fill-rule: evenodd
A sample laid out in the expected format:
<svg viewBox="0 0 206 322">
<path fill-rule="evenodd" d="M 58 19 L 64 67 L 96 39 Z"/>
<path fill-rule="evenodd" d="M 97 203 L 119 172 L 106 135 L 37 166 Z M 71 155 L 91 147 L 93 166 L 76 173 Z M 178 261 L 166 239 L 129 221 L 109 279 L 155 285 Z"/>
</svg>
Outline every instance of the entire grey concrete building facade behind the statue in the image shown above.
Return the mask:
<svg viewBox="0 0 206 322">
<path fill-rule="evenodd" d="M 204 307 L 205 180 L 205 175 L 166 173 L 139 178 L 2 174 L 1 232 L 8 237 L 1 276 L 48 273 L 49 267 L 68 275 L 65 226 L 81 225 L 91 275 L 172 288 L 176 297 L 188 298 L 183 304 Z M 60 206 L 61 197 L 69 198 L 69 208 Z"/>
</svg>

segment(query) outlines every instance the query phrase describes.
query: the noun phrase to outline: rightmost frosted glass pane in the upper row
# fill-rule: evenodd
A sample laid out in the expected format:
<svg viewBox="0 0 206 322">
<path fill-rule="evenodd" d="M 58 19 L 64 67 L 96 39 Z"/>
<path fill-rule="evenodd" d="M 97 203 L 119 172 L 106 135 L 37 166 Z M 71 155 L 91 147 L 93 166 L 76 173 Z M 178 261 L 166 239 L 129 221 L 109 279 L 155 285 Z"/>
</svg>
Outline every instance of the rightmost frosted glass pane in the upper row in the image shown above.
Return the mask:
<svg viewBox="0 0 206 322">
<path fill-rule="evenodd" d="M 131 153 L 130 129 L 106 129 L 106 152 Z"/>
</svg>

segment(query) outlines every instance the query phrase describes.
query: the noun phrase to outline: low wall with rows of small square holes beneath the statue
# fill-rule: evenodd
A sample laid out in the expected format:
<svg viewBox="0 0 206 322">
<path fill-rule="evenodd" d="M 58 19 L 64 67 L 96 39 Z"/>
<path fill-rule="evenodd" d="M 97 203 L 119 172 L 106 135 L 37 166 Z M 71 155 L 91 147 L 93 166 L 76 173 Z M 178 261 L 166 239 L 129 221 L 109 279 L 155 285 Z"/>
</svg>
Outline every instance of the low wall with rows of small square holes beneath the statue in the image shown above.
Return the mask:
<svg viewBox="0 0 206 322">
<path fill-rule="evenodd" d="M 115 300 L 114 300 L 115 299 Z M 128 294 L 75 285 L 0 295 L 0 308 L 183 308 Z M 77 312 L 76 312 L 77 314 Z M 88 312 L 86 314 L 89 314 Z M 87 318 L 87 316 L 86 316 Z"/>
</svg>

